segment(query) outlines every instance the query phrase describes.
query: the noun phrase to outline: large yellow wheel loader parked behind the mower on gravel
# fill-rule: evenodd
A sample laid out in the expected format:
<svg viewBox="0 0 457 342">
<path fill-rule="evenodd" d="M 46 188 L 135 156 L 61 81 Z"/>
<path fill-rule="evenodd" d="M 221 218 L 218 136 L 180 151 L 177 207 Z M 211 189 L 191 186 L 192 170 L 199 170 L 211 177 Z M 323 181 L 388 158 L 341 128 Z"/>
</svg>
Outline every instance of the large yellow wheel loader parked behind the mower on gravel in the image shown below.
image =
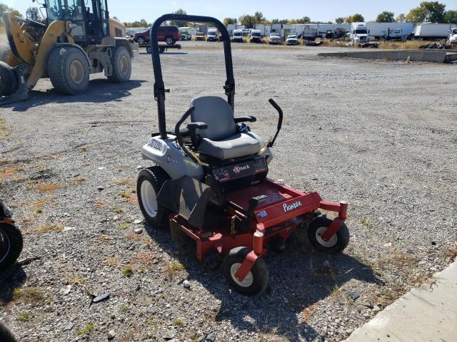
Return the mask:
<svg viewBox="0 0 457 342">
<path fill-rule="evenodd" d="M 46 19 L 4 13 L 9 46 L 0 47 L 0 105 L 26 100 L 40 78 L 63 94 L 84 93 L 91 73 L 129 81 L 138 46 L 109 19 L 107 0 L 44 0 Z"/>
</svg>

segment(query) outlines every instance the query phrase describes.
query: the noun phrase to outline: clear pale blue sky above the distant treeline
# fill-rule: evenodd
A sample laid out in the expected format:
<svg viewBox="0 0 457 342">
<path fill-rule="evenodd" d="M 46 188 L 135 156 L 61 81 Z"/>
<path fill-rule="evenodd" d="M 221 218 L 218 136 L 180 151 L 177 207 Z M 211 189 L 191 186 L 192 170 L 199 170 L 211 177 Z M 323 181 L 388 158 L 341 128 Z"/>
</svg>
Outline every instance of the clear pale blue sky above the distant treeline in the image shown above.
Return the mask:
<svg viewBox="0 0 457 342">
<path fill-rule="evenodd" d="M 42 2 L 43 0 L 38 0 Z M 87 0 L 86 0 L 87 1 Z M 8 6 L 25 14 L 29 6 L 38 6 L 31 0 L 0 0 Z M 376 19 L 382 11 L 408 14 L 410 9 L 417 7 L 421 0 L 323 0 L 319 1 L 269 1 L 269 0 L 108 0 L 110 16 L 117 16 L 121 21 L 146 19 L 153 22 L 162 14 L 171 13 L 176 9 L 184 9 L 187 14 L 238 18 L 241 14 L 253 14 L 261 11 L 266 19 L 298 19 L 309 16 L 312 21 L 334 21 L 341 16 L 360 13 L 366 21 Z M 457 0 L 439 1 L 446 4 L 446 10 L 457 10 Z"/>
</svg>

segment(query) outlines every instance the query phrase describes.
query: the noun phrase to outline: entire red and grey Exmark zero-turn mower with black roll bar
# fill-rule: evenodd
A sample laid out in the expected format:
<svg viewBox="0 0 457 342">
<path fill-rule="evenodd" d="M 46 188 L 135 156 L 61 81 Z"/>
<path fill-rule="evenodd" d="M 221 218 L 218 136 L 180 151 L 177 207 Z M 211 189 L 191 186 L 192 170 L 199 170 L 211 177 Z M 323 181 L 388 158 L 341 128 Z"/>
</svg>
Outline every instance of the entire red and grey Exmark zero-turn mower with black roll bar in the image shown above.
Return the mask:
<svg viewBox="0 0 457 342">
<path fill-rule="evenodd" d="M 211 23 L 221 32 L 226 61 L 227 99 L 200 96 L 166 130 L 165 94 L 157 30 L 164 21 Z M 151 27 L 154 98 L 158 104 L 159 133 L 154 133 L 141 154 L 156 166 L 139 172 L 137 194 L 146 222 L 155 228 L 171 227 L 172 237 L 195 242 L 196 257 L 209 269 L 222 265 L 229 284 L 242 294 L 256 294 L 268 285 L 263 257 L 268 249 L 280 251 L 298 227 L 318 251 L 341 252 L 349 242 L 344 224 L 347 203 L 325 202 L 316 192 L 305 193 L 268 179 L 268 165 L 281 130 L 283 112 L 272 99 L 279 120 L 273 138 L 263 141 L 246 123 L 252 116 L 233 116 L 235 81 L 230 36 L 217 19 L 166 14 Z M 182 126 L 189 121 L 185 128 Z M 328 219 L 317 209 L 336 212 Z"/>
</svg>

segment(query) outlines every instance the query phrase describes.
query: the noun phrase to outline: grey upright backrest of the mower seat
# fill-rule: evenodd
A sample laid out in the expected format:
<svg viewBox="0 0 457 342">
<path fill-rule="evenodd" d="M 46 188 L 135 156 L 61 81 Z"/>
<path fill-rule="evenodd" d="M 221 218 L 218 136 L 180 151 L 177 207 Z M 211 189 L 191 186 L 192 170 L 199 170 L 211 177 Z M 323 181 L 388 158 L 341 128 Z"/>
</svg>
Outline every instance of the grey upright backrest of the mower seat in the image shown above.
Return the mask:
<svg viewBox="0 0 457 342">
<path fill-rule="evenodd" d="M 219 96 L 201 96 L 191 101 L 195 107 L 191 114 L 193 123 L 203 122 L 208 125 L 206 130 L 196 130 L 201 138 L 221 140 L 236 133 L 233 109 L 224 98 Z"/>
</svg>

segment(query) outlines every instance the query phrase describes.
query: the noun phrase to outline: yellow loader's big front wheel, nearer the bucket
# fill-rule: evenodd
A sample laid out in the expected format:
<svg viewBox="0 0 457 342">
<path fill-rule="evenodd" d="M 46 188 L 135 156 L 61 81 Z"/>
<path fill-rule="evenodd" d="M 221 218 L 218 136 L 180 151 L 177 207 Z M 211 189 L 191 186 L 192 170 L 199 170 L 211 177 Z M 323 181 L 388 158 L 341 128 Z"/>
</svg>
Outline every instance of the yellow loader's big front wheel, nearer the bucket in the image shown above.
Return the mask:
<svg viewBox="0 0 457 342">
<path fill-rule="evenodd" d="M 77 95 L 89 87 L 89 61 L 79 48 L 55 48 L 49 56 L 48 73 L 59 93 Z"/>
</svg>

